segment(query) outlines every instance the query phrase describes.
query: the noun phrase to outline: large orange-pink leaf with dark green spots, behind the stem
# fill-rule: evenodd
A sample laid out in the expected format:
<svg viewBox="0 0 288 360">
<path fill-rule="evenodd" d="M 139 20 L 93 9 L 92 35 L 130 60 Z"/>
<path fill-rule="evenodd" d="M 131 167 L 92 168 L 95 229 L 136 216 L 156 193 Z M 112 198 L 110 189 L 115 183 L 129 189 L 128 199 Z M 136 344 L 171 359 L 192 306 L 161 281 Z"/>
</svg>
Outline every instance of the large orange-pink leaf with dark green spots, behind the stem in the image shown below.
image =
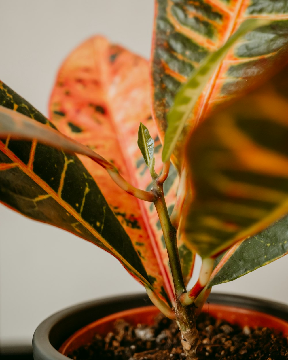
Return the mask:
<svg viewBox="0 0 288 360">
<path fill-rule="evenodd" d="M 155 171 L 161 172 L 161 144 L 151 118 L 147 60 L 103 37 L 93 37 L 76 48 L 60 68 L 50 100 L 50 118 L 63 133 L 87 145 L 113 163 L 123 177 L 140 189 L 152 187 L 149 168 L 137 146 L 139 122 L 155 143 Z M 174 297 L 169 260 L 154 205 L 123 193 L 107 173 L 81 157 L 165 300 Z M 168 208 L 175 203 L 178 176 L 172 167 L 164 183 Z M 179 242 L 179 247 L 183 242 Z M 190 258 L 189 258 L 190 253 Z M 184 252 L 183 252 L 184 254 Z M 188 255 L 187 255 L 188 254 Z M 190 278 L 193 255 L 185 267 Z"/>
</svg>

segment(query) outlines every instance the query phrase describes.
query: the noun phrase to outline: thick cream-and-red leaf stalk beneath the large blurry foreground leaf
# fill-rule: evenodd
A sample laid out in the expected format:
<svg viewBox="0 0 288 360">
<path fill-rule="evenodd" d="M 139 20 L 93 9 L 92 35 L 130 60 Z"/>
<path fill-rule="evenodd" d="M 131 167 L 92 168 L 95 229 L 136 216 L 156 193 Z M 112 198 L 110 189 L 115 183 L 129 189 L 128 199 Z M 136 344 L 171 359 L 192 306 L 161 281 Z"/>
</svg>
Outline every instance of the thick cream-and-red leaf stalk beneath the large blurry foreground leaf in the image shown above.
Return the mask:
<svg viewBox="0 0 288 360">
<path fill-rule="evenodd" d="M 183 305 L 191 305 L 198 297 L 198 295 L 202 292 L 202 290 L 206 287 L 210 279 L 210 275 L 213 271 L 214 261 L 214 259 L 211 259 L 209 257 L 202 260 L 202 266 L 196 284 L 190 291 L 181 295 L 180 301 Z"/>
</svg>

